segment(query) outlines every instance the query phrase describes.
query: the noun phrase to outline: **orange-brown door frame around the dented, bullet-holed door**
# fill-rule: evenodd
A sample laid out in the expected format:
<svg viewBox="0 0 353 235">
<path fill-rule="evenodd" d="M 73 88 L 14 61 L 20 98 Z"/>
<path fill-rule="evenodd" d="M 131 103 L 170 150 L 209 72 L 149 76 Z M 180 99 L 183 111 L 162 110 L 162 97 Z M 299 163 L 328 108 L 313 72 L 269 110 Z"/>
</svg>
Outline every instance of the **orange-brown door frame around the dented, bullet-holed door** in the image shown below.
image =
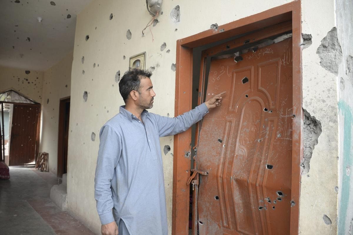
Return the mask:
<svg viewBox="0 0 353 235">
<path fill-rule="evenodd" d="M 292 198 L 290 234 L 298 234 L 300 162 L 303 159 L 301 107 L 301 1 L 295 0 L 285 5 L 221 25 L 218 30 L 207 31 L 179 39 L 175 76 L 175 117 L 192 107 L 192 68 L 193 48 L 217 42 L 232 36 L 262 29 L 264 27 L 292 20 L 293 33 L 293 137 L 292 137 Z M 188 234 L 190 187 L 186 185 L 190 177 L 191 128 L 174 136 L 173 160 L 173 209 L 172 234 Z"/>
</svg>

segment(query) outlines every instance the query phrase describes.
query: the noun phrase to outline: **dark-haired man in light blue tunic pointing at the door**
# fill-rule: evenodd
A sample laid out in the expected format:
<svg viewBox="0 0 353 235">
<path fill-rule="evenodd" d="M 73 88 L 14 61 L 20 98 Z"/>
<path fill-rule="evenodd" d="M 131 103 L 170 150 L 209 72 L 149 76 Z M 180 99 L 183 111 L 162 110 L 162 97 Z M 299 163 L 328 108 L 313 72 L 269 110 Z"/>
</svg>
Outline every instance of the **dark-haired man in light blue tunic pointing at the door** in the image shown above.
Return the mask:
<svg viewBox="0 0 353 235">
<path fill-rule="evenodd" d="M 167 235 L 159 137 L 175 135 L 222 104 L 215 95 L 175 118 L 149 113 L 156 93 L 146 70 L 127 71 L 119 82 L 125 106 L 100 131 L 95 198 L 102 235 Z"/>
</svg>

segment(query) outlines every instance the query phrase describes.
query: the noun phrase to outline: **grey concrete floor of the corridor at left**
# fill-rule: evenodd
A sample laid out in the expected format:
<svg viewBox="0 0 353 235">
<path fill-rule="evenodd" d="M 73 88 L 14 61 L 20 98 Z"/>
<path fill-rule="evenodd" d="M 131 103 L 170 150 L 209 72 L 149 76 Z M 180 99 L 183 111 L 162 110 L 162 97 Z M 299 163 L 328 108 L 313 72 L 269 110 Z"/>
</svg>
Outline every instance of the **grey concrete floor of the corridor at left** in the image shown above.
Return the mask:
<svg viewBox="0 0 353 235">
<path fill-rule="evenodd" d="M 58 183 L 52 173 L 10 167 L 10 179 L 0 180 L 0 234 L 94 235 L 50 200 L 50 188 Z"/>
</svg>

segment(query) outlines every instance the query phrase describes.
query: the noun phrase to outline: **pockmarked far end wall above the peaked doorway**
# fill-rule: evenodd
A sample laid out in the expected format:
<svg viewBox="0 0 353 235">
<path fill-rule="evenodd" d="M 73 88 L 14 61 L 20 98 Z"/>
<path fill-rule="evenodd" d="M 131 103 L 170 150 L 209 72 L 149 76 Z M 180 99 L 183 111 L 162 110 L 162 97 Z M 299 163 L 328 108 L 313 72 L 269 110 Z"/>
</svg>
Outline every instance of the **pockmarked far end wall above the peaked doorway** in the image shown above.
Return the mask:
<svg viewBox="0 0 353 235">
<path fill-rule="evenodd" d="M 13 89 L 41 103 L 43 72 L 0 66 L 0 93 Z"/>
</svg>

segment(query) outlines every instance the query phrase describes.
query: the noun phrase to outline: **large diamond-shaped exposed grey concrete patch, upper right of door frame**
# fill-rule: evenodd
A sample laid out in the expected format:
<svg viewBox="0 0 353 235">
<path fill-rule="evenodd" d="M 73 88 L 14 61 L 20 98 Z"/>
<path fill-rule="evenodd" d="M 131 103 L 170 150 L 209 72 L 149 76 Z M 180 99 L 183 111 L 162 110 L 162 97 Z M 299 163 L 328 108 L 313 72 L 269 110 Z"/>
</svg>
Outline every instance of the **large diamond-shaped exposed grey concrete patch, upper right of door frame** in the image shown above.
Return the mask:
<svg viewBox="0 0 353 235">
<path fill-rule="evenodd" d="M 333 27 L 321 40 L 321 45 L 316 50 L 320 57 L 320 65 L 338 75 L 339 64 L 342 60 L 342 49 L 337 37 L 337 29 Z"/>
</svg>

